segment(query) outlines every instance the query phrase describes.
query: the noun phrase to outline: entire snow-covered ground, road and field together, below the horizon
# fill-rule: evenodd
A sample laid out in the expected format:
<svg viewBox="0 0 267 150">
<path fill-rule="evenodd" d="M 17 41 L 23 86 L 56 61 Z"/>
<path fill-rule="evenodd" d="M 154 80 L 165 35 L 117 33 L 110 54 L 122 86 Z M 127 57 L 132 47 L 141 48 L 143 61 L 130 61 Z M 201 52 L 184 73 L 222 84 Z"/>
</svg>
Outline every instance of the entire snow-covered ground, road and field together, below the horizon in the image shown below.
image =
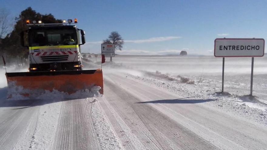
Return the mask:
<svg viewBox="0 0 267 150">
<path fill-rule="evenodd" d="M 84 62 L 100 68 L 100 58 Z M 0 69 L 3 149 L 266 149 L 267 57 L 125 56 L 103 64 L 104 95 L 46 92 L 6 100 Z M 27 66 L 8 66 L 8 72 Z M 77 98 L 78 97 L 78 98 Z M 85 98 L 88 97 L 88 98 Z"/>
</svg>

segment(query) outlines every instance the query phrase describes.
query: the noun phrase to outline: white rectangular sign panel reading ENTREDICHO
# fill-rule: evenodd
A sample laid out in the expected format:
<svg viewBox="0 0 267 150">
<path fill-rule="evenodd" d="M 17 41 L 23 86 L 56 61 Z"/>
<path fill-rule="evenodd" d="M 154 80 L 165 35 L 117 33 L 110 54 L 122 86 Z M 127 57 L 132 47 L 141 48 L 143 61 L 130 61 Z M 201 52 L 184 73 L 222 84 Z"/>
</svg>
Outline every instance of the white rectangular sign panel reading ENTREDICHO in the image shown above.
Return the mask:
<svg viewBox="0 0 267 150">
<path fill-rule="evenodd" d="M 216 38 L 215 57 L 261 57 L 264 55 L 263 38 Z"/>
</svg>

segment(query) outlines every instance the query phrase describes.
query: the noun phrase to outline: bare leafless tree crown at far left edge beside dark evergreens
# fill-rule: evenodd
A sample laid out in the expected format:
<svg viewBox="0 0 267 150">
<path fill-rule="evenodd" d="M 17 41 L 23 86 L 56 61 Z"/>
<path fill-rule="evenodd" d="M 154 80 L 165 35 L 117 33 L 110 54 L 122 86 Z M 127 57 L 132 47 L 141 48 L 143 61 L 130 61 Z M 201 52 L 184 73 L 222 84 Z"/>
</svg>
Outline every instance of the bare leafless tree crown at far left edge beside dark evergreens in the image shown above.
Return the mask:
<svg viewBox="0 0 267 150">
<path fill-rule="evenodd" d="M 5 8 L 0 8 L 0 38 L 4 38 L 11 31 L 9 15 Z"/>
</svg>

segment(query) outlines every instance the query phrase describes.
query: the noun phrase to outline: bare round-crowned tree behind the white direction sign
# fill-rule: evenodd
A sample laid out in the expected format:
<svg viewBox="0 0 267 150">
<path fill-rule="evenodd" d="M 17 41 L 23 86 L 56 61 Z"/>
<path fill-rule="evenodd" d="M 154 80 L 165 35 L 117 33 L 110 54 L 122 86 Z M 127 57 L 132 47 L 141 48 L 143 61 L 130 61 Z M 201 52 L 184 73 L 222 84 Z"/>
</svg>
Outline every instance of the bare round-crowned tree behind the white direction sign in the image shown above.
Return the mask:
<svg viewBox="0 0 267 150">
<path fill-rule="evenodd" d="M 124 41 L 117 31 L 113 31 L 107 39 L 103 40 L 103 44 L 114 44 L 115 50 L 119 49 L 121 51 Z M 110 62 L 112 62 L 112 57 L 110 57 Z"/>
</svg>

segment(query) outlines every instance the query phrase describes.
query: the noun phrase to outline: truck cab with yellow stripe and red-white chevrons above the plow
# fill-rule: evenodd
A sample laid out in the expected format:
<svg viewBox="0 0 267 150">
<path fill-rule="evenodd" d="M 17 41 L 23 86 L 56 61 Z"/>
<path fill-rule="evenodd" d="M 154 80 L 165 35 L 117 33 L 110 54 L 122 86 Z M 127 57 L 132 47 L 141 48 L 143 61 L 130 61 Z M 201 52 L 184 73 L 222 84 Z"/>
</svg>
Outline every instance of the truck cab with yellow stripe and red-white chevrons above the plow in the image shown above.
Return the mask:
<svg viewBox="0 0 267 150">
<path fill-rule="evenodd" d="M 85 44 L 83 30 L 70 22 L 27 25 L 22 45 L 29 48 L 30 72 L 82 70 L 80 45 Z"/>
</svg>

